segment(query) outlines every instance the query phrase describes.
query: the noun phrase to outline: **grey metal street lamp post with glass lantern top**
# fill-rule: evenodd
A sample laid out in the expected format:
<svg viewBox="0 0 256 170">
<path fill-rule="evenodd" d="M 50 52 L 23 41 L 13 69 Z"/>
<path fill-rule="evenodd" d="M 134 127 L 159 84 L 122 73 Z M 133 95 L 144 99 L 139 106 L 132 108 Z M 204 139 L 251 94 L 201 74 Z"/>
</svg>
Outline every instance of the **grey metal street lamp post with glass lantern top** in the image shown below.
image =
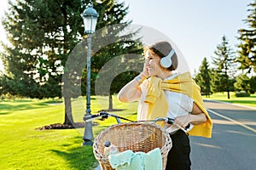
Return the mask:
<svg viewBox="0 0 256 170">
<path fill-rule="evenodd" d="M 93 8 L 92 4 L 89 4 L 87 8 L 84 9 L 83 14 L 81 14 L 84 20 L 84 33 L 88 34 L 87 42 L 87 78 L 86 78 L 86 111 L 84 116 L 90 115 L 90 43 L 91 43 L 91 33 L 96 29 L 96 22 L 99 14 Z M 92 133 L 92 123 L 85 122 L 84 127 L 84 143 L 83 145 L 92 145 L 93 133 Z"/>
</svg>

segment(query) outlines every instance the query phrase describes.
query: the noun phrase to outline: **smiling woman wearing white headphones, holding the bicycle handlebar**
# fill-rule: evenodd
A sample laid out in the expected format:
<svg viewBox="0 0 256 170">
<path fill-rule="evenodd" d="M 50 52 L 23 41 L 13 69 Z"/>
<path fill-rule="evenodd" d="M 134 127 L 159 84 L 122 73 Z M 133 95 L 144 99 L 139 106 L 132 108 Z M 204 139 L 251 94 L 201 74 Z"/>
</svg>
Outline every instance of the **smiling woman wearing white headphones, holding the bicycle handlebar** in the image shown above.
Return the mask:
<svg viewBox="0 0 256 170">
<path fill-rule="evenodd" d="M 189 72 L 175 73 L 177 54 L 169 42 L 156 42 L 145 48 L 144 54 L 143 71 L 119 91 L 118 98 L 122 102 L 139 101 L 138 121 L 170 117 L 181 127 L 190 124 L 189 134 L 174 125 L 162 124 L 172 139 L 166 169 L 190 169 L 189 135 L 212 136 L 212 121 L 200 88 Z"/>
</svg>

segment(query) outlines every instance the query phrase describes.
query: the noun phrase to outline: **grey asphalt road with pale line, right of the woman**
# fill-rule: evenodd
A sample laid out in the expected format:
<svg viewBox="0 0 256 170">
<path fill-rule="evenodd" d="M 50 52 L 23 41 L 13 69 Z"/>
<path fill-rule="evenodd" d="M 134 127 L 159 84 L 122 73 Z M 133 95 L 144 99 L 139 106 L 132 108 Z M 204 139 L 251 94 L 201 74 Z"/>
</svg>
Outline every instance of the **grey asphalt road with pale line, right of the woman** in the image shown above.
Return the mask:
<svg viewBox="0 0 256 170">
<path fill-rule="evenodd" d="M 212 117 L 212 139 L 190 137 L 191 169 L 256 170 L 256 109 L 211 100 L 205 105 Z"/>
</svg>

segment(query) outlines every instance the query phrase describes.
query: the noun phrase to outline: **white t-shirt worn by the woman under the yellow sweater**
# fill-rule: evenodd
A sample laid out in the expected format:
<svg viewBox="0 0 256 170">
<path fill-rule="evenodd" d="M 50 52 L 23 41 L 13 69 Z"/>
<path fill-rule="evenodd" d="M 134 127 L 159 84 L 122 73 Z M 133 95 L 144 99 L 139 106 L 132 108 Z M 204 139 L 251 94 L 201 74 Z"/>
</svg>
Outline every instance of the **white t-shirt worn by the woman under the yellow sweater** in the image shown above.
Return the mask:
<svg viewBox="0 0 256 170">
<path fill-rule="evenodd" d="M 172 80 L 174 77 L 177 77 L 177 74 L 172 75 L 171 77 L 167 77 L 166 80 Z M 141 84 L 142 89 L 142 95 L 139 99 L 139 105 L 137 110 L 137 120 L 138 121 L 146 121 L 147 120 L 147 114 L 148 114 L 148 104 L 144 103 L 144 100 L 146 99 L 147 93 L 148 93 L 148 81 L 144 81 Z M 194 100 L 189 98 L 186 94 L 181 94 L 177 92 L 172 92 L 169 90 L 164 91 L 166 94 L 166 100 L 168 103 L 168 111 L 167 111 L 167 117 L 170 117 L 172 119 L 175 119 L 177 116 L 187 116 L 189 112 L 193 109 L 193 102 Z M 189 129 L 191 129 L 192 125 L 190 125 Z M 168 129 L 169 133 L 173 133 L 177 131 L 177 127 L 172 126 L 171 129 Z"/>
</svg>

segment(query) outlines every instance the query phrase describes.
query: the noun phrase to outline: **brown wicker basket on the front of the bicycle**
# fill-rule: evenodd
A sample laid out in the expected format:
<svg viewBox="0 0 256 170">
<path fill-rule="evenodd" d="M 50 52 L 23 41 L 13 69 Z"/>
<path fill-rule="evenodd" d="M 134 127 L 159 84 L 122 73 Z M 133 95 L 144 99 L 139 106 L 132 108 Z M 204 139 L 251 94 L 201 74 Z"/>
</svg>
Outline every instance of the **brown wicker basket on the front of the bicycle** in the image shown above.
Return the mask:
<svg viewBox="0 0 256 170">
<path fill-rule="evenodd" d="M 172 139 L 160 126 L 149 122 L 120 123 L 102 130 L 93 144 L 94 155 L 102 170 L 112 170 L 108 157 L 104 156 L 104 143 L 110 141 L 119 151 L 132 150 L 147 153 L 160 148 L 163 169 L 166 168 L 167 155 L 172 148 Z"/>
</svg>

